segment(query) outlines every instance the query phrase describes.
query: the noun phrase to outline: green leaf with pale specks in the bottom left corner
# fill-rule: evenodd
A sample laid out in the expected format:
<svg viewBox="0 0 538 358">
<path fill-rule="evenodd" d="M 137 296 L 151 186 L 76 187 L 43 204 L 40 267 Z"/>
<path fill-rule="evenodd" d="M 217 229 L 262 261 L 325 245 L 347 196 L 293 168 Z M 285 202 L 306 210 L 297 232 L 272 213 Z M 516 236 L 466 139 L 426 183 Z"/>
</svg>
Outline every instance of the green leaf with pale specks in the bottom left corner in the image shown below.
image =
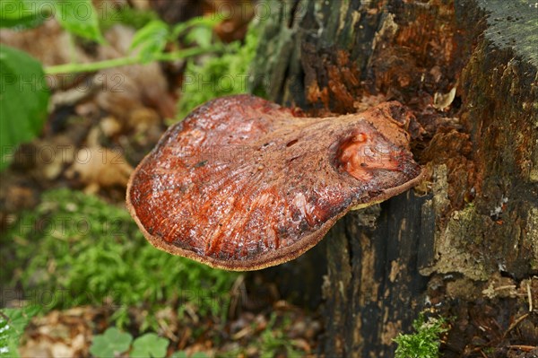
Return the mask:
<svg viewBox="0 0 538 358">
<path fill-rule="evenodd" d="M 0 310 L 0 358 L 19 357 L 19 340 L 24 328 L 39 310 L 39 306 Z"/>
</svg>

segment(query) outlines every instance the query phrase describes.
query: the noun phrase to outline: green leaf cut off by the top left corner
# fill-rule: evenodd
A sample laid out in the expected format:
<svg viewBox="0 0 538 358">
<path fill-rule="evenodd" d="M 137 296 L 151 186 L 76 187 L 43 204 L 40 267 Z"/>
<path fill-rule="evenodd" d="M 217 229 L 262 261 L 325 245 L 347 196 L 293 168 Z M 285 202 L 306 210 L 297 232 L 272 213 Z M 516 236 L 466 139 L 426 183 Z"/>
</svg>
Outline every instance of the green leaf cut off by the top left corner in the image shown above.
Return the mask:
<svg viewBox="0 0 538 358">
<path fill-rule="evenodd" d="M 29 29 L 39 26 L 51 15 L 53 9 L 43 0 L 2 0 L 0 27 Z"/>
</svg>

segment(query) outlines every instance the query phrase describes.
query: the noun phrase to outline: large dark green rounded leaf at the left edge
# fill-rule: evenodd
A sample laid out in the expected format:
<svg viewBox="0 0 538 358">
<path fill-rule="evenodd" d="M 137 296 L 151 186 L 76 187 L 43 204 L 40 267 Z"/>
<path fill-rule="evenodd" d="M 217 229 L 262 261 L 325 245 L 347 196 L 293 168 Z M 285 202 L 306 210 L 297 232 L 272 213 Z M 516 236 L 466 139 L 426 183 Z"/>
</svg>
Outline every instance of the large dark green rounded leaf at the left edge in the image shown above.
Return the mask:
<svg viewBox="0 0 538 358">
<path fill-rule="evenodd" d="M 18 144 L 39 134 L 47 118 L 48 87 L 39 61 L 0 45 L 0 170 Z"/>
</svg>

